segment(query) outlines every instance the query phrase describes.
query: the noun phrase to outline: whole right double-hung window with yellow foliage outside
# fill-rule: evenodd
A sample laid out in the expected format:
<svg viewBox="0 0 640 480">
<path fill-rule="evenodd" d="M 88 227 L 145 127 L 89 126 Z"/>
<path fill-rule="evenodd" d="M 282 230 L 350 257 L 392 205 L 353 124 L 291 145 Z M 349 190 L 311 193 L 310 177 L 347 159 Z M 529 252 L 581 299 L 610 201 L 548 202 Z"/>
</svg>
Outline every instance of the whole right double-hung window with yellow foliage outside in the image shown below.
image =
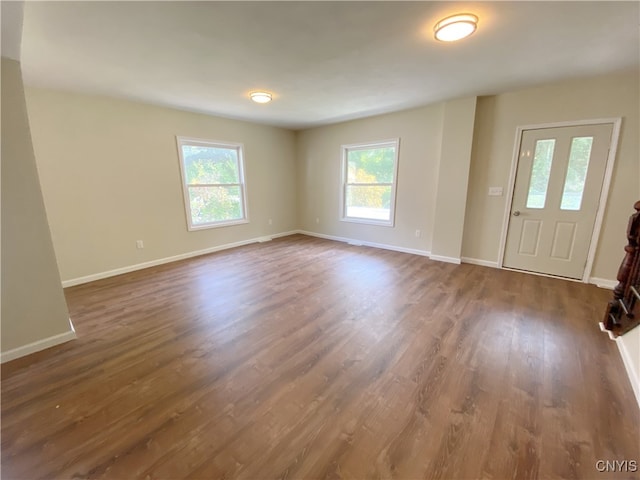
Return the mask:
<svg viewBox="0 0 640 480">
<path fill-rule="evenodd" d="M 342 147 L 342 220 L 393 225 L 398 142 Z"/>
</svg>

